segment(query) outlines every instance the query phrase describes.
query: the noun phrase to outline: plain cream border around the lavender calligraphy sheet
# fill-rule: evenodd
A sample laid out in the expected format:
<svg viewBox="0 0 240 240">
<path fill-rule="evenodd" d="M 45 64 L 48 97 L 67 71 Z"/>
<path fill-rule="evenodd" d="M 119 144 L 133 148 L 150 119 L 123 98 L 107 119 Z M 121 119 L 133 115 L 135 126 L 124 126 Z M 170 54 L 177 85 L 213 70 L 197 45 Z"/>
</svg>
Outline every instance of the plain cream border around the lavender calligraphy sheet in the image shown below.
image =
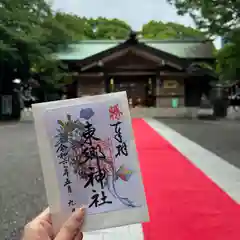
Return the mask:
<svg viewBox="0 0 240 240">
<path fill-rule="evenodd" d="M 132 127 L 131 114 L 128 107 L 126 91 L 109 93 L 104 95 L 82 97 L 81 104 L 91 103 L 94 100 L 98 102 L 106 101 L 112 98 L 120 99 L 122 101 L 124 110 L 128 111 L 127 119 L 130 120 L 130 124 Z M 44 114 L 49 109 L 74 106 L 79 103 L 79 100 L 80 98 L 67 99 L 67 100 L 60 100 L 60 101 L 53 101 L 53 102 L 38 103 L 38 104 L 33 104 L 32 106 L 34 125 L 35 125 L 35 131 L 37 135 L 38 148 L 39 148 L 39 155 L 40 155 L 42 172 L 44 177 L 44 184 L 45 184 L 48 204 L 52 214 L 53 227 L 54 227 L 55 233 L 59 231 L 62 223 L 66 221 L 70 213 L 64 214 L 61 212 L 60 188 L 58 185 L 58 179 L 56 175 L 56 166 L 52 161 L 53 156 L 51 151 L 50 139 L 48 138 L 48 135 L 47 135 L 47 129 L 44 126 L 45 125 Z M 134 142 L 133 130 L 131 132 L 131 139 Z M 135 147 L 136 159 L 138 159 L 135 143 L 134 143 L 134 147 Z M 143 188 L 142 197 L 145 200 L 144 201 L 145 204 L 141 207 L 136 207 L 131 209 L 121 209 L 121 210 L 99 213 L 94 215 L 87 215 L 85 219 L 85 224 L 83 225 L 83 228 L 82 228 L 84 232 L 96 231 L 96 230 L 101 230 L 101 229 L 110 228 L 110 227 L 111 228 L 120 227 L 128 224 L 135 224 L 135 223 L 149 221 L 149 213 L 148 213 L 146 194 L 145 194 L 145 189 L 143 185 L 140 164 L 139 162 L 137 164 L 138 164 L 138 168 L 139 168 L 138 170 L 140 173 L 142 188 Z M 126 215 L 126 218 L 124 218 L 124 224 L 121 225 L 119 224 L 119 222 L 120 222 L 120 219 L 123 217 L 123 214 Z M 105 215 L 107 215 L 108 217 L 105 218 Z M 91 225 L 97 226 L 97 228 L 91 227 Z"/>
</svg>

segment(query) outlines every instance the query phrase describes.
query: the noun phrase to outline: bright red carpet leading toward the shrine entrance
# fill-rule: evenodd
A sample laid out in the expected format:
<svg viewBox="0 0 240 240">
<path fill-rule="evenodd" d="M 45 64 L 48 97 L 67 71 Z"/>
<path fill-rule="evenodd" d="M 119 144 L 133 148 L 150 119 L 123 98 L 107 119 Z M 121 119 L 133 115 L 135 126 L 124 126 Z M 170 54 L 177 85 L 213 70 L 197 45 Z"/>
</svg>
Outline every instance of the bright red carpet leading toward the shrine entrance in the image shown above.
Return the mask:
<svg viewBox="0 0 240 240">
<path fill-rule="evenodd" d="M 150 214 L 144 239 L 240 240 L 240 206 L 143 120 L 133 128 Z"/>
</svg>

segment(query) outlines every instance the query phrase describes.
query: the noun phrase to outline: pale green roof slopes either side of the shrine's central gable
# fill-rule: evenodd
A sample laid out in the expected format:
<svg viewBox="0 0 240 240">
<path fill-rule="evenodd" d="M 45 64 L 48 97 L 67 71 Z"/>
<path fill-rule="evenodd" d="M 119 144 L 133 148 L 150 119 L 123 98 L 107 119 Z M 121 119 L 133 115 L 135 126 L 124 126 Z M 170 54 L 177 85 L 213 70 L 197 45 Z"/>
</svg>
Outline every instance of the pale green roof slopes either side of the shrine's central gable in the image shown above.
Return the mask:
<svg viewBox="0 0 240 240">
<path fill-rule="evenodd" d="M 125 40 L 85 40 L 70 44 L 68 49 L 58 52 L 61 60 L 83 60 L 94 54 L 116 47 Z M 213 58 L 214 46 L 206 40 L 139 40 L 158 50 L 181 58 Z"/>
</svg>

